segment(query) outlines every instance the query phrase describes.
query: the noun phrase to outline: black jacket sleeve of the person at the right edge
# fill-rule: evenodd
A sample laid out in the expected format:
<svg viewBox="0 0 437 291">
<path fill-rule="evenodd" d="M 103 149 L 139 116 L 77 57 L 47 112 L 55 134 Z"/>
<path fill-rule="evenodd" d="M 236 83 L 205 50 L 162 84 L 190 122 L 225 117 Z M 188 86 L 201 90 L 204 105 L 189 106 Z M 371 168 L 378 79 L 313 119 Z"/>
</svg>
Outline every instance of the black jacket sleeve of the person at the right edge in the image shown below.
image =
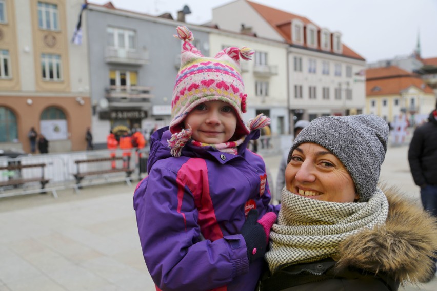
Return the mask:
<svg viewBox="0 0 437 291">
<path fill-rule="evenodd" d="M 426 184 L 425 176 L 421 167 L 421 157 L 423 151 L 423 134 L 420 128 L 414 131 L 408 148 L 408 162 L 410 164 L 411 175 L 414 183 L 418 186 Z"/>
</svg>

